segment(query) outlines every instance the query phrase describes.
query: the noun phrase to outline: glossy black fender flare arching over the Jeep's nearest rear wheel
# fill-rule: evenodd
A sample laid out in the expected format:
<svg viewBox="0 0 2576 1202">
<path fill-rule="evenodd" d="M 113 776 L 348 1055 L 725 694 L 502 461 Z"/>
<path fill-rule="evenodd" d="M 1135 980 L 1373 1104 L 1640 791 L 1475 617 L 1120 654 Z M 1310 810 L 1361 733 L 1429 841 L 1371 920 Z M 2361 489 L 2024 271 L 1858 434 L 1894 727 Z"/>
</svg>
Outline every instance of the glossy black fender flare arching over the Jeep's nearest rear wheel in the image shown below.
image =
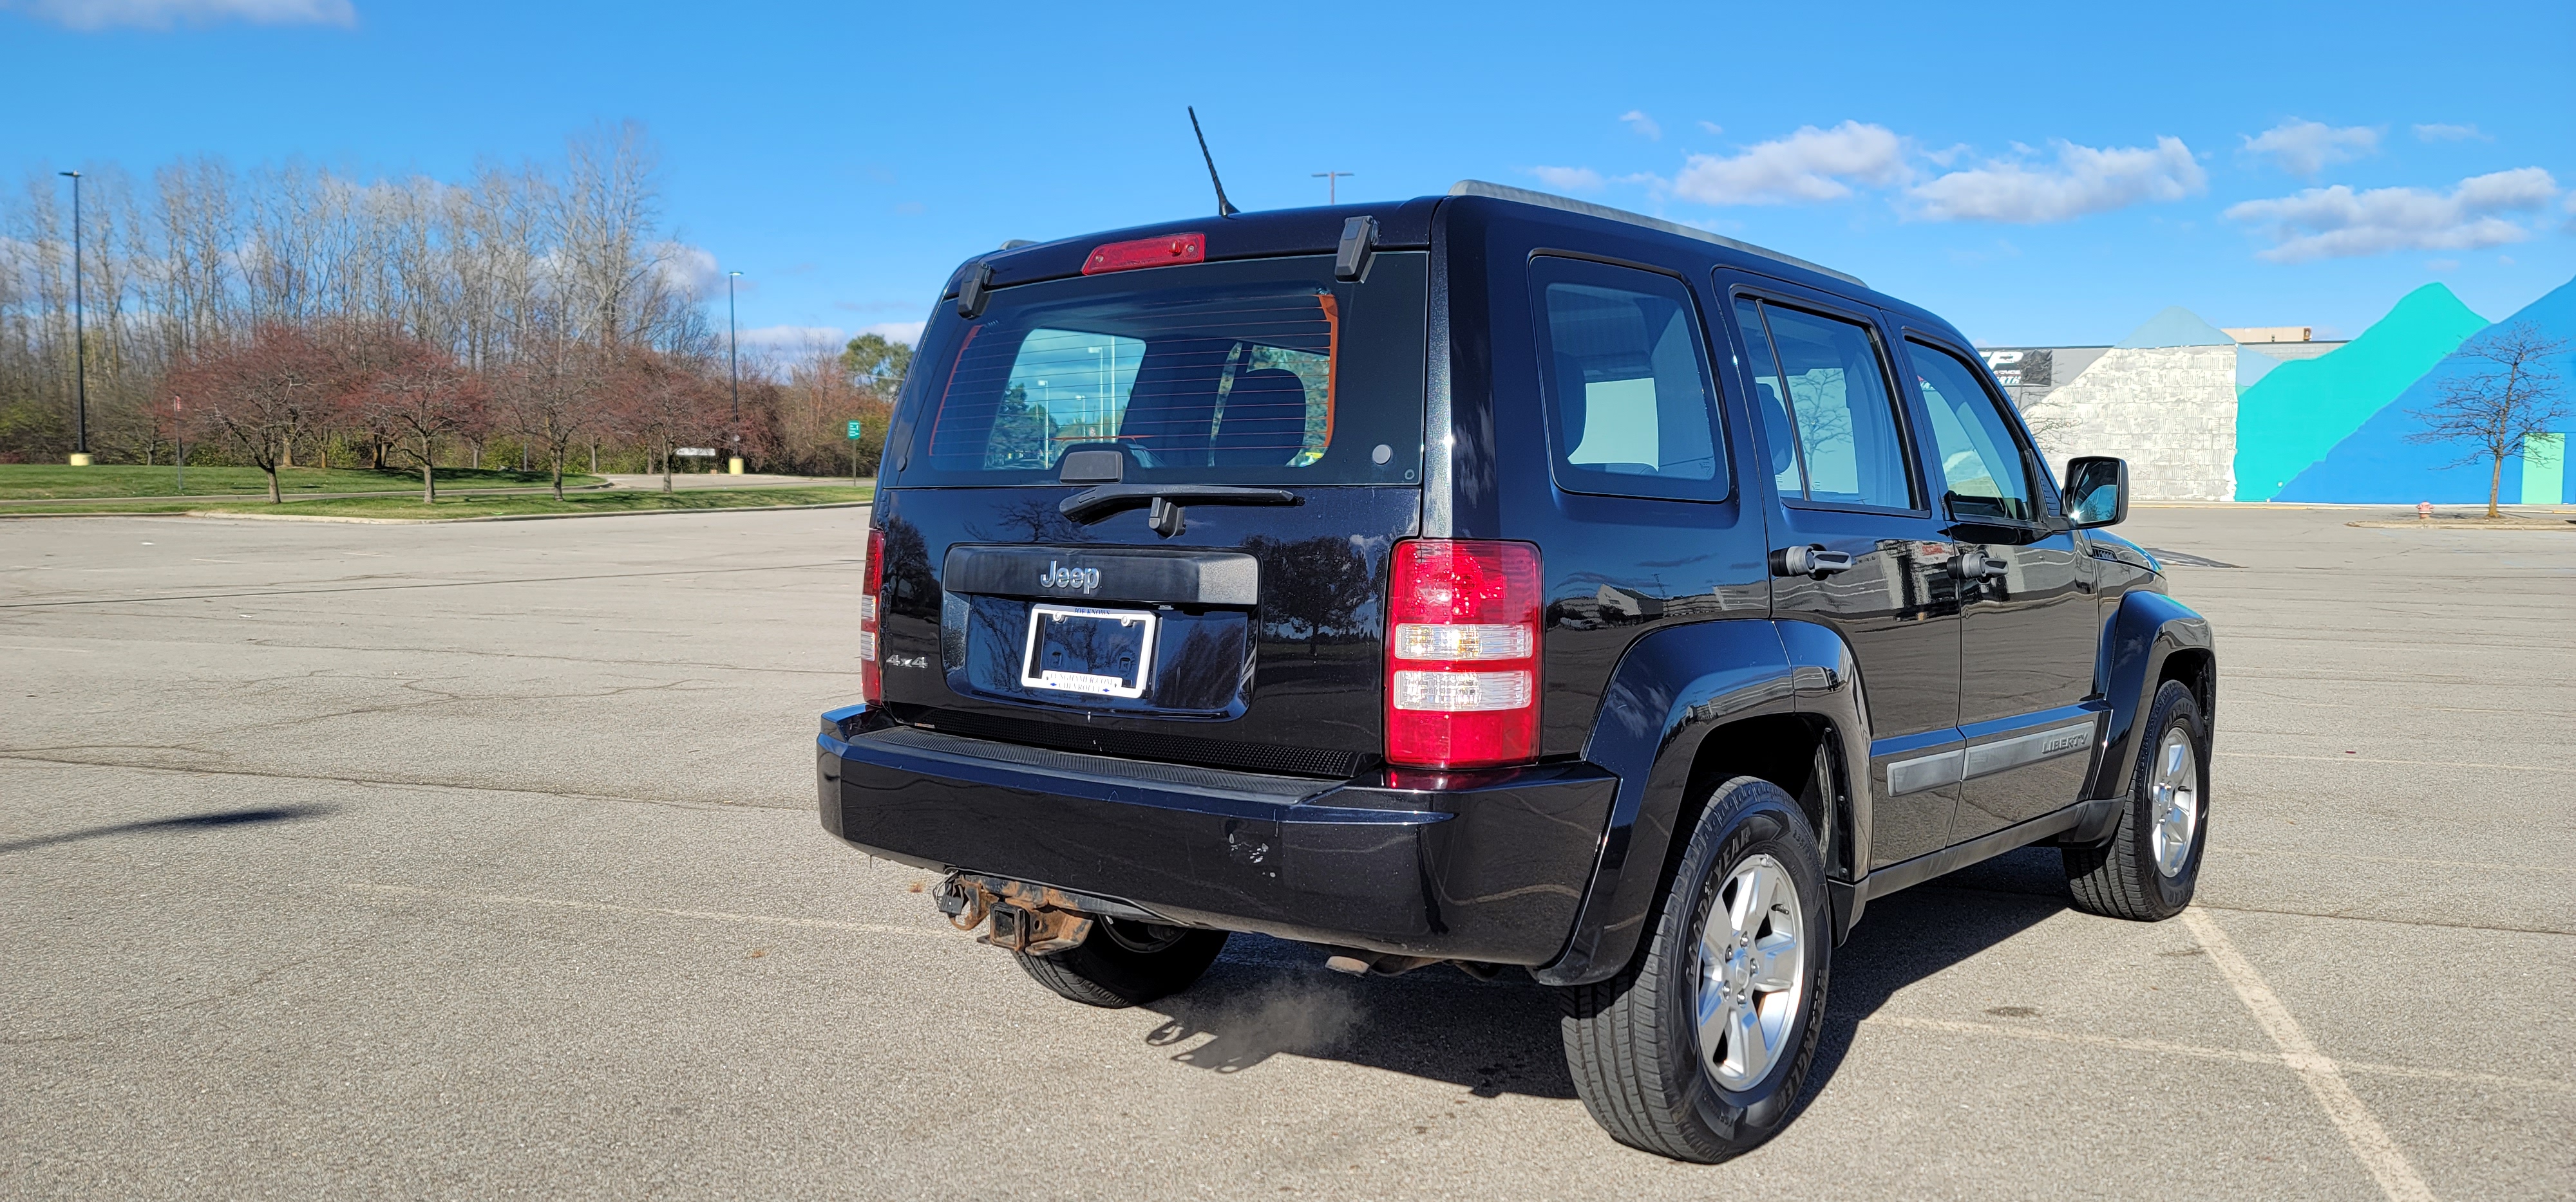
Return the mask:
<svg viewBox="0 0 2576 1202">
<path fill-rule="evenodd" d="M 1548 986 L 1582 986 L 1625 968 L 1664 891 L 1664 860 L 1680 834 L 1690 800 L 1682 790 L 1700 744 L 1723 723 L 1793 713 L 1819 713 L 1839 736 L 1826 803 L 1850 821 L 1847 831 L 1819 837 L 1844 847 L 1857 842 L 1857 852 L 1834 857 L 1865 865 L 1870 731 L 1857 664 L 1834 631 L 1741 618 L 1651 631 L 1631 643 L 1602 690 L 1584 744 L 1587 762 L 1618 775 L 1618 798 L 1566 950 L 1530 975 Z M 1852 772 L 1850 764 L 1862 767 Z"/>
</svg>

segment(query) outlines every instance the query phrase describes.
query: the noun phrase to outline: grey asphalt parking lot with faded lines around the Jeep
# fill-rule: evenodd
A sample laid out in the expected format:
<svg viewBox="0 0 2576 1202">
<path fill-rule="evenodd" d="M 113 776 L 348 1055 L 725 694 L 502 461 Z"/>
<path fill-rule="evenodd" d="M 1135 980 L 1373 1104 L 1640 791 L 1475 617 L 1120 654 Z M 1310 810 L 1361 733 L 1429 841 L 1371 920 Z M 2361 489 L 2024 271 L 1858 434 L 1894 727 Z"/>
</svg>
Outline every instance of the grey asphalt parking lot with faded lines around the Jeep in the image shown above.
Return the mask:
<svg viewBox="0 0 2576 1202">
<path fill-rule="evenodd" d="M 2200 903 L 1873 903 L 1806 1114 L 1680 1166 L 1553 999 L 1236 939 L 1097 1012 L 814 821 L 863 510 L 0 525 L 0 1194 L 2568 1197 L 2576 533 L 2146 510 Z"/>
</svg>

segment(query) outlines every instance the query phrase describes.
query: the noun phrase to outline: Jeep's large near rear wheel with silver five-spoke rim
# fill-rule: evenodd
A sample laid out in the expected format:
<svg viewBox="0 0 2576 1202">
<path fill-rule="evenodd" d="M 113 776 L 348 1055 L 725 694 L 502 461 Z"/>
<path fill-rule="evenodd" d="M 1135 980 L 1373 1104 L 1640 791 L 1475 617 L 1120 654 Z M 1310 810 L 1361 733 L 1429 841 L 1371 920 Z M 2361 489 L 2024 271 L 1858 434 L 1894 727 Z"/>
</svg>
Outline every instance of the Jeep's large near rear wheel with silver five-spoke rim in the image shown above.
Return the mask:
<svg viewBox="0 0 2576 1202">
<path fill-rule="evenodd" d="M 1777 785 L 1708 800 L 1620 975 L 1564 999 L 1566 1068 L 1610 1138 L 1713 1163 L 1788 1125 L 1824 1032 L 1824 860 Z"/>
</svg>

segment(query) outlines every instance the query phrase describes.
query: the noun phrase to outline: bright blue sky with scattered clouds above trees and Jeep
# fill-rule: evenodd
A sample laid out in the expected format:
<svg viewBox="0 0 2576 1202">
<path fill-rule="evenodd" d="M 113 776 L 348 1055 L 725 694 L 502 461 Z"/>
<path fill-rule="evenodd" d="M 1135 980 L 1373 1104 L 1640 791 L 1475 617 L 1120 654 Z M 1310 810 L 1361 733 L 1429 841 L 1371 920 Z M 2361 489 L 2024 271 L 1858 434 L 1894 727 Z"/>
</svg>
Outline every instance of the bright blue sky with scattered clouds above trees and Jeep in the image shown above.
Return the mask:
<svg viewBox="0 0 2576 1202">
<path fill-rule="evenodd" d="M 2576 275 L 2576 5 L 489 5 L 0 0 L 0 172 L 178 154 L 456 178 L 662 149 L 747 329 L 917 322 L 1007 237 L 1569 190 L 1772 245 L 1981 342 L 2182 304 L 2354 335 Z M 15 183 L 15 180 L 13 180 Z M 721 291 L 716 293 L 721 306 Z"/>
</svg>

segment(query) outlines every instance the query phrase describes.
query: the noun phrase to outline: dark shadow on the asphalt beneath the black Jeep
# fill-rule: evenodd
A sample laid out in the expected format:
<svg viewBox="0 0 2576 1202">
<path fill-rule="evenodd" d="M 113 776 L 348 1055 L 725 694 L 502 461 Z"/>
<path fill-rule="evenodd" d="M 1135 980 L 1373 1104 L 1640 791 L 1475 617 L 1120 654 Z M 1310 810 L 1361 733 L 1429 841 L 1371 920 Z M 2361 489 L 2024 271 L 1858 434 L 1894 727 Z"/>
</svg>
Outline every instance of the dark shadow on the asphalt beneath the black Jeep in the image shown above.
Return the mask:
<svg viewBox="0 0 2576 1202">
<path fill-rule="evenodd" d="M 1935 975 L 2066 909 L 2053 847 L 2025 847 L 1868 909 L 1834 950 L 1824 1037 L 1808 1096 L 1899 988 Z M 1510 968 L 1494 981 L 1432 965 L 1394 978 L 1324 968 L 1324 952 L 1236 934 L 1188 994 L 1146 1006 L 1144 1042 L 1211 1073 L 1273 1055 L 1342 1060 L 1445 1081 L 1473 1096 L 1571 1099 L 1556 991 Z M 1203 1040 L 1203 1042 L 1200 1042 Z"/>
</svg>

